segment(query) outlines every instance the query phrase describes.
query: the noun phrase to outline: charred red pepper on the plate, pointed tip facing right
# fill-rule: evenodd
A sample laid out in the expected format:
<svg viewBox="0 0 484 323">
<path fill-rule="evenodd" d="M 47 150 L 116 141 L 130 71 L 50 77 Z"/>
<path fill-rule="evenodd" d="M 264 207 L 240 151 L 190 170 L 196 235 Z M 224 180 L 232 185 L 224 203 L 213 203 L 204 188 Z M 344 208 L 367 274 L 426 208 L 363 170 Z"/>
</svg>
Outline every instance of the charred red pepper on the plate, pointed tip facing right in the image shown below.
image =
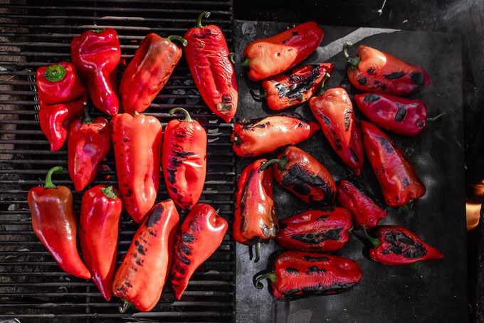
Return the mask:
<svg viewBox="0 0 484 323">
<path fill-rule="evenodd" d="M 367 237 L 374 245 L 370 257 L 384 265 L 406 265 L 423 260 L 442 259 L 443 253 L 431 247 L 409 229 L 401 226 L 377 226 L 377 238 Z M 366 233 L 366 231 L 365 231 Z"/>
</svg>

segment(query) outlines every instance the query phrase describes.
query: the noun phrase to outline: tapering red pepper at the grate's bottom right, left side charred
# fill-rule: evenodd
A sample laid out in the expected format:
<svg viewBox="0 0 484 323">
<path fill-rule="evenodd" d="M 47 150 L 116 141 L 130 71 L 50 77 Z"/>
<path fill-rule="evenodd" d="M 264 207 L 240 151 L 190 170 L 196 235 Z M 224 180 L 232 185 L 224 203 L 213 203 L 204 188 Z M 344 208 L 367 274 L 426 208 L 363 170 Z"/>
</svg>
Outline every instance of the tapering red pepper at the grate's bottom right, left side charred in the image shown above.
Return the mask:
<svg viewBox="0 0 484 323">
<path fill-rule="evenodd" d="M 180 300 L 196 268 L 219 248 L 227 228 L 226 219 L 217 216 L 209 204 L 191 208 L 181 224 L 174 249 L 172 287 L 176 300 Z"/>
</svg>

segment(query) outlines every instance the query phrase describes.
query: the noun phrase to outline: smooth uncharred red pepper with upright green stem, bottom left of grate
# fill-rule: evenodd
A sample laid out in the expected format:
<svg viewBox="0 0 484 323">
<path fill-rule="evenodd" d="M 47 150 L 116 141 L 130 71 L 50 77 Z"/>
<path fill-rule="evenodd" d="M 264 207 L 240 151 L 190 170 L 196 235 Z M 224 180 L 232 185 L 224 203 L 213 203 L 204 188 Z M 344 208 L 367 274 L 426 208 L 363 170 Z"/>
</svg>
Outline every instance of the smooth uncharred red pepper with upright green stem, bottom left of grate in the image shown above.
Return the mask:
<svg viewBox="0 0 484 323">
<path fill-rule="evenodd" d="M 67 186 L 55 186 L 52 174 L 62 171 L 55 166 L 47 172 L 46 184 L 28 191 L 33 233 L 46 247 L 62 270 L 70 275 L 89 279 L 88 268 L 80 259 L 76 243 L 77 219 L 73 194 Z"/>
</svg>

